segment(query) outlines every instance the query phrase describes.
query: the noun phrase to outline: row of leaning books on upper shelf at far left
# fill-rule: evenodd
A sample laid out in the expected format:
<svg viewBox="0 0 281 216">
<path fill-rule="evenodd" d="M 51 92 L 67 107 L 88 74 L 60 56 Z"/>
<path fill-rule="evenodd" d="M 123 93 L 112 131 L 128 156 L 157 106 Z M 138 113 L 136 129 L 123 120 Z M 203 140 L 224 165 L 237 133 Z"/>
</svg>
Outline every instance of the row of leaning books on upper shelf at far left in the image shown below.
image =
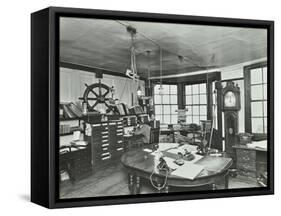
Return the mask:
<svg viewBox="0 0 281 216">
<path fill-rule="evenodd" d="M 80 102 L 70 102 L 60 104 L 60 117 L 61 118 L 80 118 L 83 116 L 82 105 Z"/>
</svg>

